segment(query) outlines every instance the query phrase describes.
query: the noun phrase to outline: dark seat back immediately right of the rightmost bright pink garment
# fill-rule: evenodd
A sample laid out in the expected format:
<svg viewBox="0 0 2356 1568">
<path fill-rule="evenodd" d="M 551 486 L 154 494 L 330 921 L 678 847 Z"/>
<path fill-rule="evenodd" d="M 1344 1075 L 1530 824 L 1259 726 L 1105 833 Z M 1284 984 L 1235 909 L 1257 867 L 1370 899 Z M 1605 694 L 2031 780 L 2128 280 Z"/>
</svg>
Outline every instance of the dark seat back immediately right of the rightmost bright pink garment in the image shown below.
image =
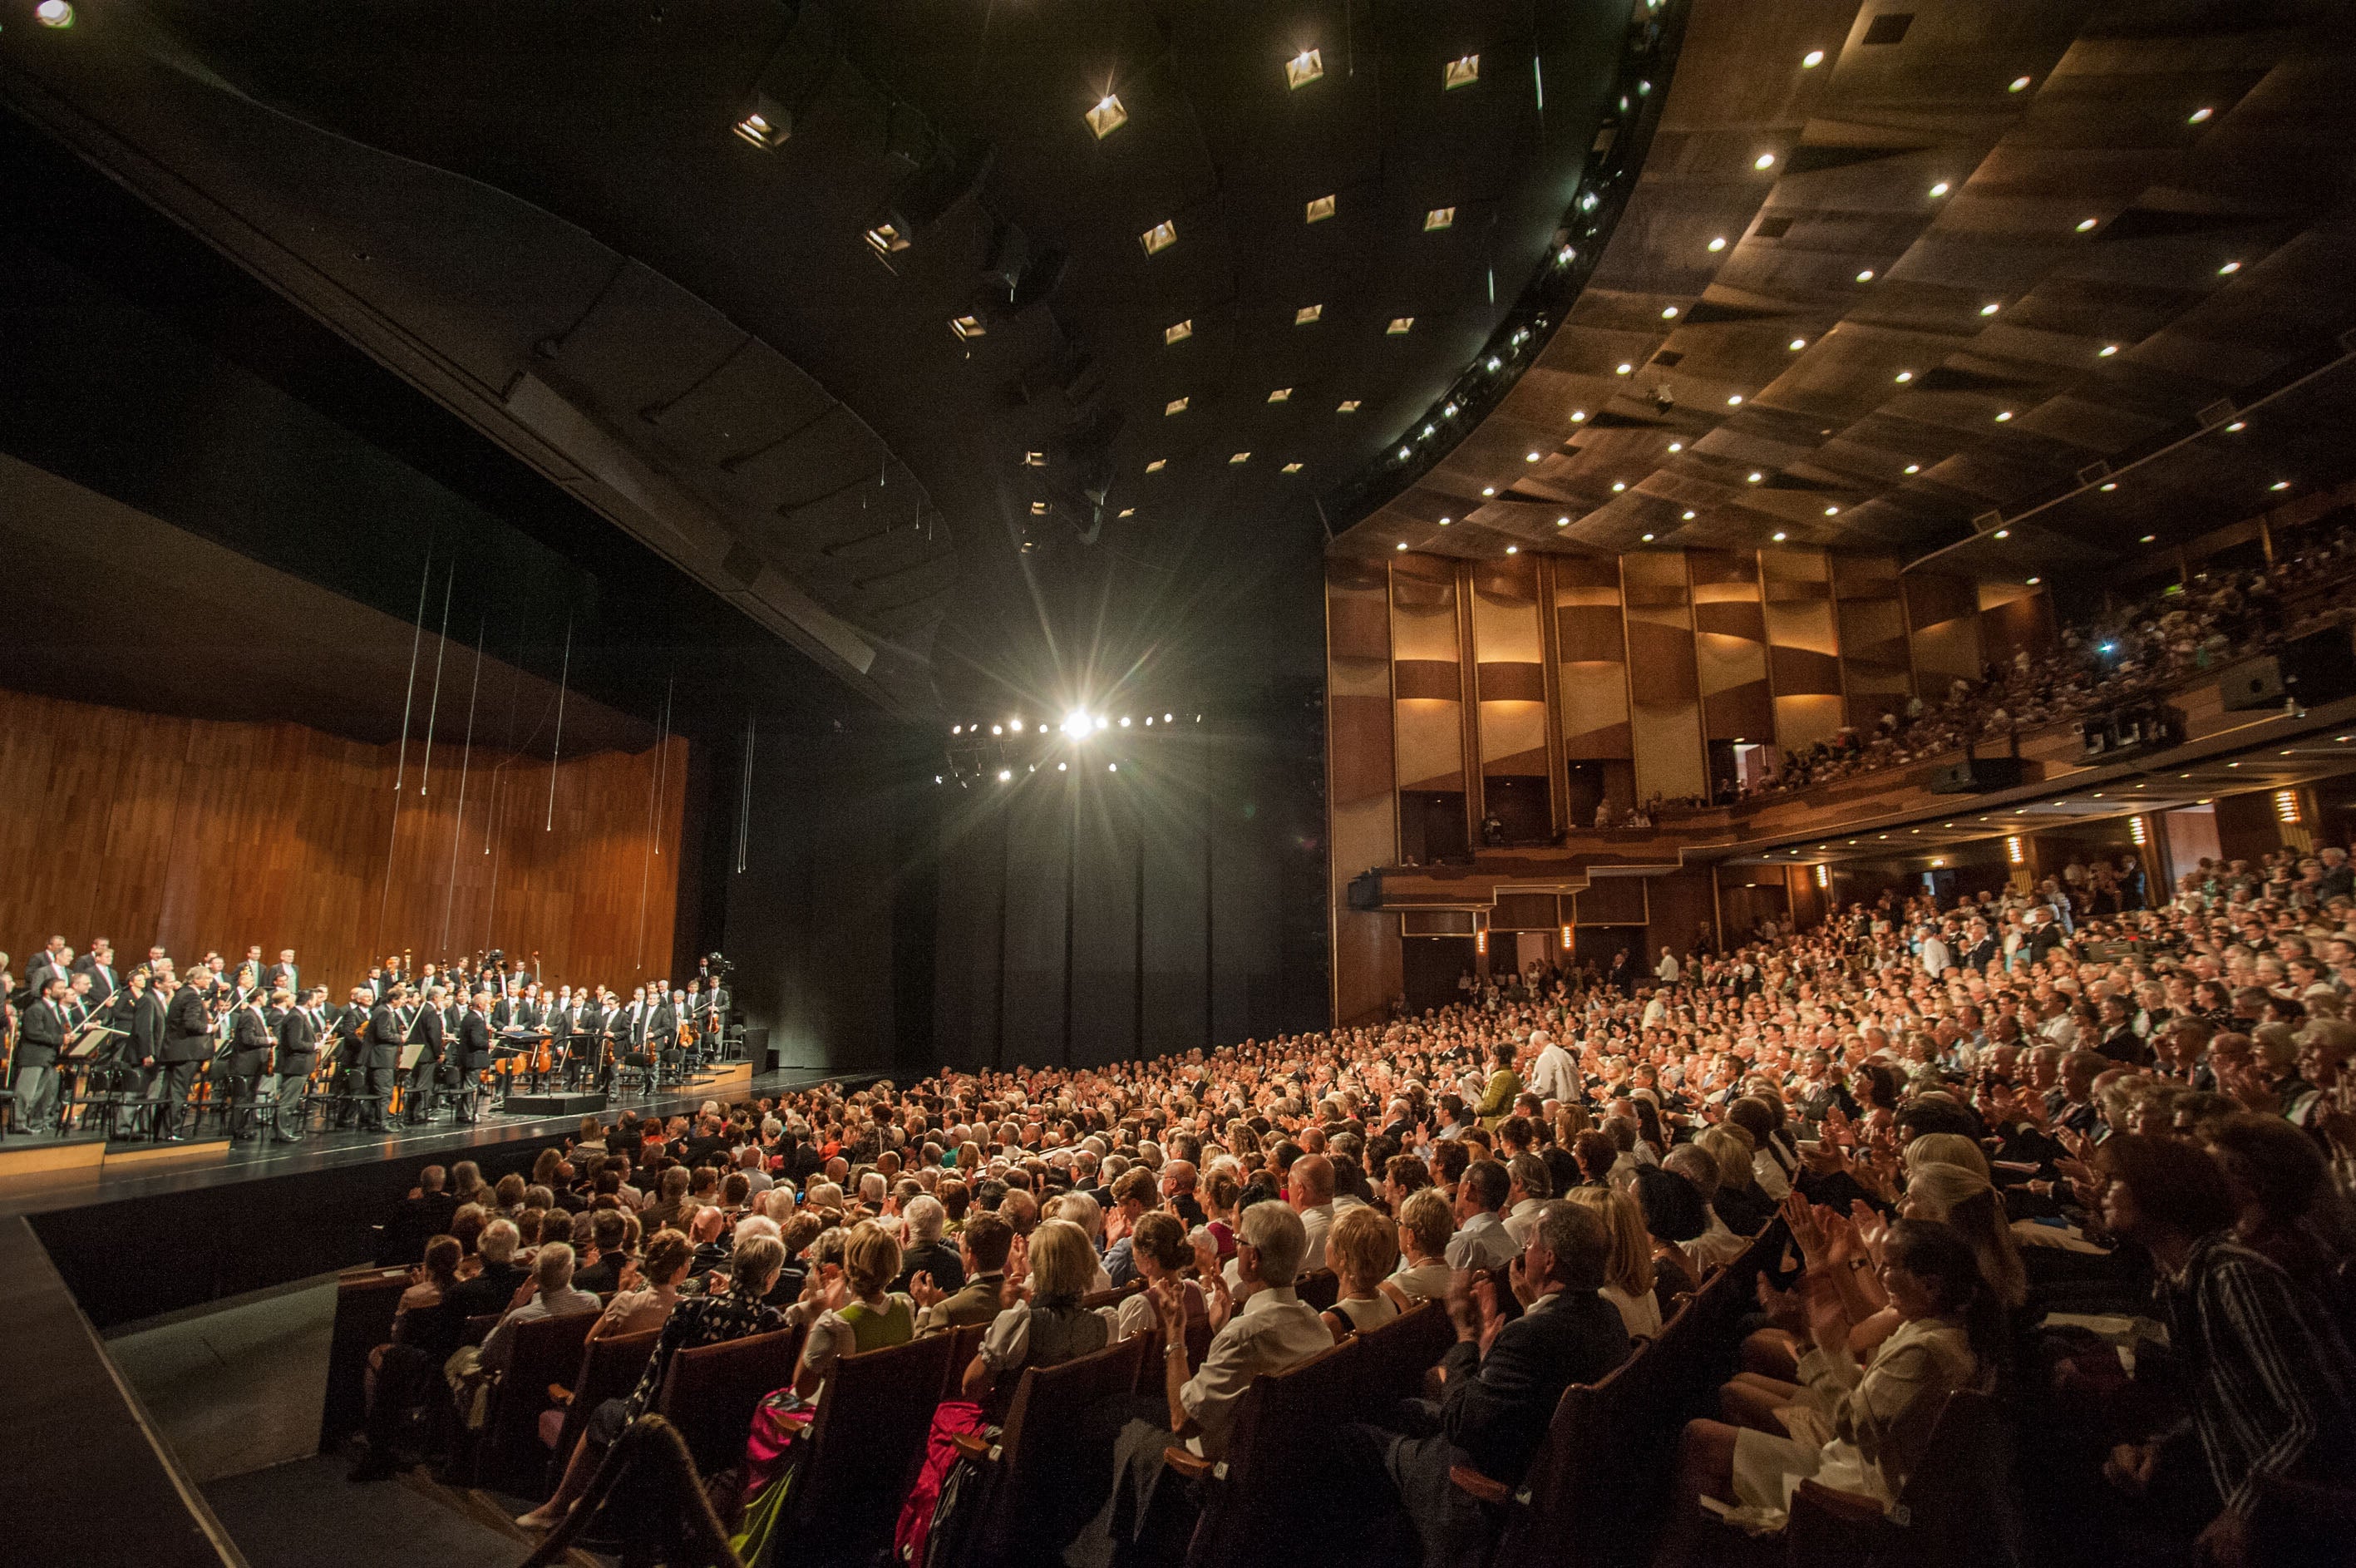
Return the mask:
<svg viewBox="0 0 2356 1568">
<path fill-rule="evenodd" d="M 999 1434 L 999 1471 L 975 1521 L 975 1561 L 1006 1568 L 1053 1561 L 1096 1514 L 1107 1438 L 1147 1339 L 1131 1335 L 1093 1356 L 1023 1372 Z"/>
</svg>

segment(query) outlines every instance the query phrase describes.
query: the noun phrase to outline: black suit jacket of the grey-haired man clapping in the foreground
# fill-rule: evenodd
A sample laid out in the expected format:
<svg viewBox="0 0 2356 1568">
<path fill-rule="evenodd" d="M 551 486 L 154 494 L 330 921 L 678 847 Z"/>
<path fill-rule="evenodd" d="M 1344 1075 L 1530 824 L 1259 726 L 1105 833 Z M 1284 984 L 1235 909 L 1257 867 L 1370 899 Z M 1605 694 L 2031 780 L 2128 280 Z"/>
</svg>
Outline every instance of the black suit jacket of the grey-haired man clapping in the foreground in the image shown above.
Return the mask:
<svg viewBox="0 0 2356 1568">
<path fill-rule="evenodd" d="M 1567 1290 L 1496 1332 L 1489 1353 L 1458 1342 L 1440 1361 L 1447 1394 L 1440 1429 L 1477 1471 L 1520 1485 L 1555 1419 L 1562 1391 L 1597 1382 L 1628 1361 L 1619 1309 L 1593 1290 Z"/>
</svg>

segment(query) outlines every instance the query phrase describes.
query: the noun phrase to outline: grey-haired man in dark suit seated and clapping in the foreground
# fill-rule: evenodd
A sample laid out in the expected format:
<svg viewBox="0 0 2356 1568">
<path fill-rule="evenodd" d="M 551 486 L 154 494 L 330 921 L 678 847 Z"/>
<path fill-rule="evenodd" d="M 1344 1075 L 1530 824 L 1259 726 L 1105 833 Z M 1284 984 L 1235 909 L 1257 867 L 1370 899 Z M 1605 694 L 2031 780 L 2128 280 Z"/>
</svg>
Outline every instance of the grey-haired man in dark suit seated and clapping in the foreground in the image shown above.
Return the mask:
<svg viewBox="0 0 2356 1568">
<path fill-rule="evenodd" d="M 1425 1568 L 1472 1561 L 1487 1540 L 1482 1504 L 1449 1469 L 1468 1464 L 1517 1488 L 1562 1391 L 1602 1382 L 1628 1358 L 1619 1309 L 1597 1294 L 1609 1257 L 1612 1233 L 1595 1210 L 1541 1205 L 1503 1278 L 1463 1271 L 1449 1285 L 1456 1344 L 1440 1361 L 1442 1398 L 1407 1401 L 1399 1429 L 1350 1429 L 1359 1464 L 1381 1471 L 1414 1523 Z M 1505 1320 L 1505 1290 L 1520 1318 Z"/>
</svg>

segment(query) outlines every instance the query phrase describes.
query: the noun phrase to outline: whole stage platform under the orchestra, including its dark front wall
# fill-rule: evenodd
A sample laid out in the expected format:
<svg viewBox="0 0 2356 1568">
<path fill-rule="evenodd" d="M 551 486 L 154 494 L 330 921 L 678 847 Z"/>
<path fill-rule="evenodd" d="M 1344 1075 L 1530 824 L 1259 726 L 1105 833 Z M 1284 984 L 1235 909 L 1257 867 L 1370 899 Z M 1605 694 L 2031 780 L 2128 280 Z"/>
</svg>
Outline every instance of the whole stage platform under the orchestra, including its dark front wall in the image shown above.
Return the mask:
<svg viewBox="0 0 2356 1568">
<path fill-rule="evenodd" d="M 704 1101 L 742 1101 L 808 1089 L 851 1087 L 881 1073 L 782 1070 L 740 1073 L 700 1082 L 681 1094 L 608 1103 L 598 1120 L 693 1113 Z M 580 1115 L 485 1113 L 474 1127 L 448 1120 L 386 1132 L 311 1132 L 302 1144 L 212 1144 L 188 1158 L 153 1144 L 111 1144 L 106 1160 L 21 1174 L 0 1184 L 0 1217 L 24 1214 L 40 1236 L 82 1311 L 99 1327 L 269 1290 L 292 1280 L 372 1261 L 375 1226 L 417 1186 L 426 1165 L 476 1160 L 488 1181 L 530 1172 L 542 1148 L 563 1148 L 580 1132 Z M 0 1148 L 42 1144 L 75 1148 L 73 1139 L 9 1137 Z M 134 1158 L 118 1158 L 130 1151 Z"/>
</svg>

